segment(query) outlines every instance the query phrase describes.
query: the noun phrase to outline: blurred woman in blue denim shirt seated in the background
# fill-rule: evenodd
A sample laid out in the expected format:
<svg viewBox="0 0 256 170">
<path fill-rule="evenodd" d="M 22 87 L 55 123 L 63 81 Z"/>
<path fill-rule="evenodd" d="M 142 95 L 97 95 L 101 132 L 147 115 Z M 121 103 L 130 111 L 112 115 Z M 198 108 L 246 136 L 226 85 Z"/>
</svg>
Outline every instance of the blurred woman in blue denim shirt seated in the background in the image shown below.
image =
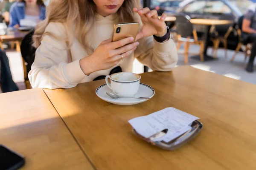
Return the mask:
<svg viewBox="0 0 256 170">
<path fill-rule="evenodd" d="M 31 20 L 38 23 L 45 19 L 43 0 L 18 0 L 10 9 L 10 27 L 19 28 L 20 20 Z"/>
</svg>

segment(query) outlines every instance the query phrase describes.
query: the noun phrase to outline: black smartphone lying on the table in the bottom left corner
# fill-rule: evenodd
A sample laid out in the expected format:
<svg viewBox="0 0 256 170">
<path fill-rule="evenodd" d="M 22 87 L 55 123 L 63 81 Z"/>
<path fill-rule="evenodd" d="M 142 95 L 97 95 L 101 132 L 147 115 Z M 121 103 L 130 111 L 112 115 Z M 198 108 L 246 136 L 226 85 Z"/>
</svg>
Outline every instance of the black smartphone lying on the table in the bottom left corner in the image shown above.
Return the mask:
<svg viewBox="0 0 256 170">
<path fill-rule="evenodd" d="M 0 145 L 0 170 L 17 170 L 25 163 L 25 159 Z"/>
</svg>

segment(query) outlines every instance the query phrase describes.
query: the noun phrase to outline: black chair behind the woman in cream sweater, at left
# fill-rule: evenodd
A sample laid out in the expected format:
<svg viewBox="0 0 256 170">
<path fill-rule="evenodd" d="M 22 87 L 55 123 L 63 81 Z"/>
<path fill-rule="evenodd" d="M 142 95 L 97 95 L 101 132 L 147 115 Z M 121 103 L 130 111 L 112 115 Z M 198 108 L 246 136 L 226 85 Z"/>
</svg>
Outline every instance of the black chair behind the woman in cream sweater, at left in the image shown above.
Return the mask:
<svg viewBox="0 0 256 170">
<path fill-rule="evenodd" d="M 20 52 L 21 52 L 21 57 L 23 61 L 24 81 L 26 84 L 26 89 L 31 88 L 29 78 L 28 78 L 28 73 L 31 70 L 31 65 L 35 60 L 36 48 L 32 46 L 33 34 L 34 34 L 34 30 L 26 34 L 26 36 L 23 38 L 20 45 Z"/>
</svg>

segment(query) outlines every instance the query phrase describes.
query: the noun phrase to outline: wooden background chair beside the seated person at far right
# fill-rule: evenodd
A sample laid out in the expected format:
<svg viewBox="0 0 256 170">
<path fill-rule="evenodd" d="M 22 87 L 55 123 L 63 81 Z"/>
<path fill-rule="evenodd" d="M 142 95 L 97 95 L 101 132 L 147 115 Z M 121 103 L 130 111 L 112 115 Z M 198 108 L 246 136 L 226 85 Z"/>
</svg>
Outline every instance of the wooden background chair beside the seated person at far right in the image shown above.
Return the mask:
<svg viewBox="0 0 256 170">
<path fill-rule="evenodd" d="M 248 42 L 248 40 L 246 38 L 243 37 L 242 35 L 242 24 L 243 24 L 243 20 L 244 20 L 244 16 L 241 16 L 238 20 L 238 23 L 236 25 L 236 31 L 238 34 L 238 38 L 239 38 L 239 43 L 236 47 L 236 51 L 235 54 L 233 55 L 232 59 L 230 60 L 230 62 L 233 62 L 236 54 L 239 52 L 240 49 L 242 49 L 244 51 L 244 60 L 247 59 L 247 57 L 250 56 L 251 53 L 251 44 Z M 242 48 L 244 46 L 244 48 Z"/>
</svg>

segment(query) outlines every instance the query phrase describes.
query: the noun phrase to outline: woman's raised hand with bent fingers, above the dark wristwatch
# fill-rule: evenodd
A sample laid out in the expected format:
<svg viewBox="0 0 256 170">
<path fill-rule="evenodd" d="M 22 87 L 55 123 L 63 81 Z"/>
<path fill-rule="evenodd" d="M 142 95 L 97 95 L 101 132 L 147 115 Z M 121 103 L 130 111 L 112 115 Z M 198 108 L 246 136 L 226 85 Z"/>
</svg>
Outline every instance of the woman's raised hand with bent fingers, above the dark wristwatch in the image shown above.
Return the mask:
<svg viewBox="0 0 256 170">
<path fill-rule="evenodd" d="M 167 33 L 166 14 L 163 13 L 160 19 L 158 18 L 157 10 L 150 11 L 149 8 L 134 8 L 134 12 L 140 15 L 143 26 L 140 32 L 137 34 L 136 40 L 144 37 L 155 35 L 157 37 L 163 37 Z"/>
</svg>

